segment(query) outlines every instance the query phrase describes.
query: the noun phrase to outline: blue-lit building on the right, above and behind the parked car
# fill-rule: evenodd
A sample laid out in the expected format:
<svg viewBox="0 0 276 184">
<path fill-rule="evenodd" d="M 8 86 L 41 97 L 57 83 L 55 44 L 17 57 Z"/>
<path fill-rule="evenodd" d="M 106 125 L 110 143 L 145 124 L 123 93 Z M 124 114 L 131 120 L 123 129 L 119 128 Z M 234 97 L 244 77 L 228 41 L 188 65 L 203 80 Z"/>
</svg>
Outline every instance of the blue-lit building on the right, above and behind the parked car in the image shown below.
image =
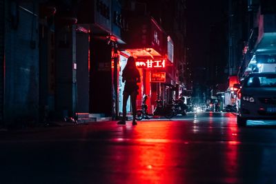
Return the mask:
<svg viewBox="0 0 276 184">
<path fill-rule="evenodd" d="M 237 92 L 234 78 L 242 83 L 250 72 L 276 72 L 276 2 L 228 2 L 228 93 L 233 102 Z"/>
</svg>

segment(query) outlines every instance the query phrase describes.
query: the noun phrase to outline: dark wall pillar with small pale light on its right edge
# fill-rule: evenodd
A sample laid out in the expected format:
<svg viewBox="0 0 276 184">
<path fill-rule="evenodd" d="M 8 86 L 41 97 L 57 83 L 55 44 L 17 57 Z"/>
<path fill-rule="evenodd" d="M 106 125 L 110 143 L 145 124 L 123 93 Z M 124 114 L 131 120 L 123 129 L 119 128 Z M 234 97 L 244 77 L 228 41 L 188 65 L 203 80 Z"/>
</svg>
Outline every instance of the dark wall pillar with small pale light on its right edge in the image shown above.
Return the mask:
<svg viewBox="0 0 276 184">
<path fill-rule="evenodd" d="M 77 63 L 75 25 L 56 28 L 56 91 L 57 118 L 74 116 L 77 107 Z"/>
</svg>

